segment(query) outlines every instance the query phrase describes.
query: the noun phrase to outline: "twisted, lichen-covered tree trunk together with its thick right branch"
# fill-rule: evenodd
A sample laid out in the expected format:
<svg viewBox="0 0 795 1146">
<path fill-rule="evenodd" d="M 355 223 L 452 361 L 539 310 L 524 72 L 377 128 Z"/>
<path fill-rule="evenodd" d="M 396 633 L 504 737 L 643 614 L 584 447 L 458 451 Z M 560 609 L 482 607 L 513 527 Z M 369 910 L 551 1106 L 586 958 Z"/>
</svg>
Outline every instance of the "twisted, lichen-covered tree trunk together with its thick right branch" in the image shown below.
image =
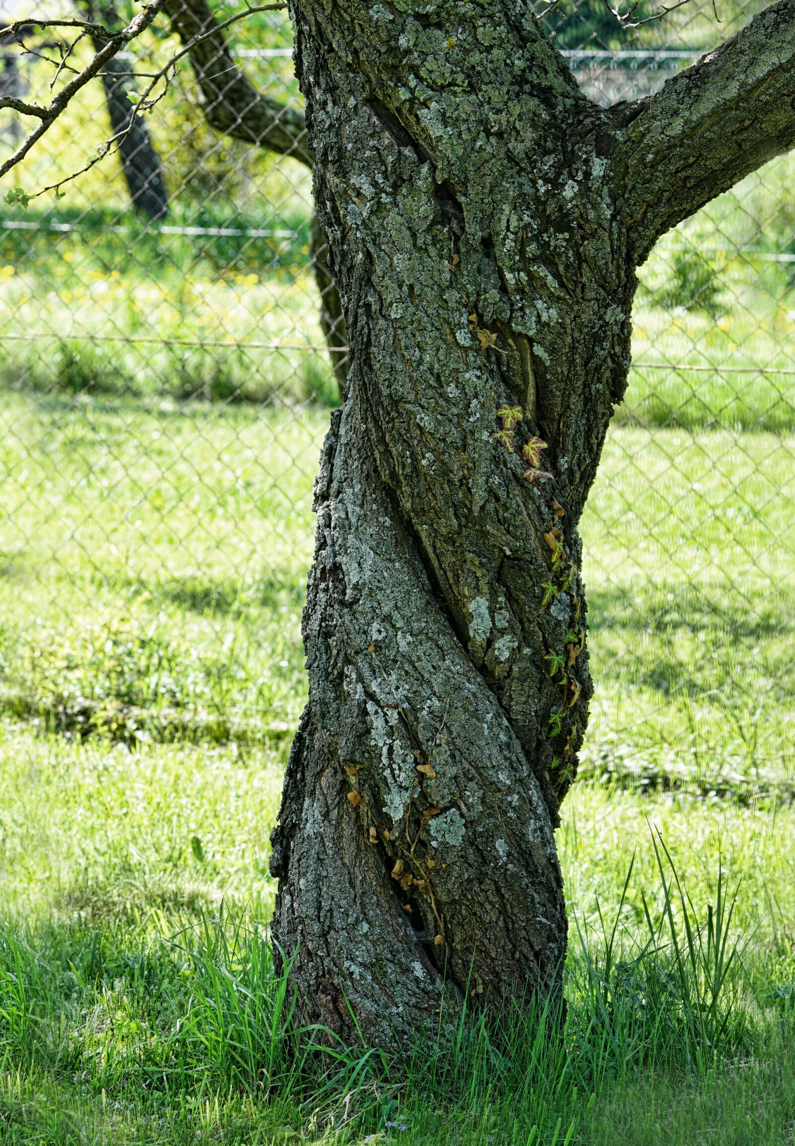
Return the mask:
<svg viewBox="0 0 795 1146">
<path fill-rule="evenodd" d="M 305 1019 L 415 1038 L 559 994 L 592 685 L 577 523 L 655 240 L 795 142 L 795 0 L 635 104 L 526 0 L 294 0 L 352 347 L 271 871 Z M 355 1018 L 355 1023 L 354 1023 Z"/>
</svg>

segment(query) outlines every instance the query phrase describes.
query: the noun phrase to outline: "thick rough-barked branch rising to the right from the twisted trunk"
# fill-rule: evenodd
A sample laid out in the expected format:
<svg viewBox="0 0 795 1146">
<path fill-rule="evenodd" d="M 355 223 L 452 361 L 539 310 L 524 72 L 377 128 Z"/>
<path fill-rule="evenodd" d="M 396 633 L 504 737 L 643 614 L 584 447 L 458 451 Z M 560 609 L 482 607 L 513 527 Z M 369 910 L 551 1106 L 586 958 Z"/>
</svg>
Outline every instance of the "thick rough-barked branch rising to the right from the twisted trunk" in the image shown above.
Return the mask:
<svg viewBox="0 0 795 1146">
<path fill-rule="evenodd" d="M 615 109 L 630 253 L 795 146 L 795 0 L 765 8 L 656 95 Z"/>
</svg>

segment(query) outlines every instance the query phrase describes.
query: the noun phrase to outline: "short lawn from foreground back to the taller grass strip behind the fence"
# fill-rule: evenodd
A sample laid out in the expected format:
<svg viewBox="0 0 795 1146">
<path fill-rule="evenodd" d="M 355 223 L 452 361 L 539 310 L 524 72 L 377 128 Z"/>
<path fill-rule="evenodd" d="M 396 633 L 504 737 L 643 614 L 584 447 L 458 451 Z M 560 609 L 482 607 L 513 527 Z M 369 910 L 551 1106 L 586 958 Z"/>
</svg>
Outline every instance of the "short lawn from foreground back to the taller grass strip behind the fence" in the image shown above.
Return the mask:
<svg viewBox="0 0 795 1146">
<path fill-rule="evenodd" d="M 787 1141 L 790 438 L 613 429 L 583 521 L 597 697 L 558 833 L 567 1054 L 543 1017 L 487 1036 L 473 1015 L 420 1063 L 285 1033 L 263 941 L 328 414 L 22 388 L 2 417 L 3 1141 Z M 693 1034 L 709 979 L 677 980 L 658 829 L 700 923 L 718 872 L 737 889 L 719 1035 Z"/>
</svg>

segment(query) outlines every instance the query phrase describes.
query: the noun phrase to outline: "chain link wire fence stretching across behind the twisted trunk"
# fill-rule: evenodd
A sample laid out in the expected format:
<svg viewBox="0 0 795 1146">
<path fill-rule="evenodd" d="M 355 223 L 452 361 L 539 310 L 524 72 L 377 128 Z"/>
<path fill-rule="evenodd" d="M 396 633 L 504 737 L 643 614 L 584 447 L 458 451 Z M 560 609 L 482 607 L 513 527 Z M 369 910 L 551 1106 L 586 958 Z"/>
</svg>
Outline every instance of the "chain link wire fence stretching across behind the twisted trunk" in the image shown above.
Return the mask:
<svg viewBox="0 0 795 1146">
<path fill-rule="evenodd" d="M 32 14 L 5 0 L 0 23 Z M 693 0 L 625 29 L 561 0 L 544 18 L 611 104 L 750 15 Z M 226 42 L 233 78 L 301 108 L 285 15 Z M 6 94 L 52 78 L 57 37 L 25 44 L 0 34 Z M 179 47 L 164 18 L 11 181 L 32 196 L 85 166 Z M 126 150 L 0 207 L 0 706 L 136 751 L 282 752 L 305 699 L 312 480 L 344 338 L 334 369 L 308 167 L 220 134 L 199 80 L 183 58 Z M 0 111 L 2 157 L 21 135 Z M 640 272 L 627 400 L 582 526 L 583 772 L 600 783 L 795 793 L 794 176 L 790 157 L 771 163 Z"/>
</svg>

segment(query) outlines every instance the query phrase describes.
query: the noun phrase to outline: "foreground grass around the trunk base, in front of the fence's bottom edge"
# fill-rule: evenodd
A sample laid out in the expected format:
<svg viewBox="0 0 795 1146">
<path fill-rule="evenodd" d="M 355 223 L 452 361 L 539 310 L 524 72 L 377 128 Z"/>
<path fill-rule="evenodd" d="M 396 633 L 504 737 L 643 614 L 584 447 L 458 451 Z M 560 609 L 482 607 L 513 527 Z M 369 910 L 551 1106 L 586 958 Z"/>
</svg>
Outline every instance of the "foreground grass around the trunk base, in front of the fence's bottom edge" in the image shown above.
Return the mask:
<svg viewBox="0 0 795 1146">
<path fill-rule="evenodd" d="M 562 1042 L 522 1007 L 407 1060 L 283 1021 L 262 926 L 282 754 L 2 737 L 3 1140 L 786 1140 L 793 809 L 580 787 Z"/>
</svg>

